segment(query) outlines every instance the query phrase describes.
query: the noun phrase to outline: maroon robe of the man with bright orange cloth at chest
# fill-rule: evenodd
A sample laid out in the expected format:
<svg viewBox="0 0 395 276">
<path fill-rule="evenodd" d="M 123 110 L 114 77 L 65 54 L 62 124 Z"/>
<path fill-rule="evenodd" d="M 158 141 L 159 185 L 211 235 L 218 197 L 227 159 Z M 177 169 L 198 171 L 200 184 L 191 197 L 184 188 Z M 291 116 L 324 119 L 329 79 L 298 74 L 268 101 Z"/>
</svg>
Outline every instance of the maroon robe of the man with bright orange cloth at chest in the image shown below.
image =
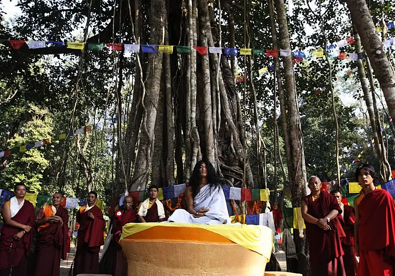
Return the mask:
<svg viewBox="0 0 395 276">
<path fill-rule="evenodd" d="M 51 206 L 51 205 L 50 205 Z M 59 276 L 60 259 L 67 259 L 67 231 L 69 215 L 59 206 L 55 216 L 63 220 L 63 225 L 50 223 L 36 234 L 35 271 L 34 276 Z M 37 220 L 45 218 L 43 208 Z"/>
</svg>

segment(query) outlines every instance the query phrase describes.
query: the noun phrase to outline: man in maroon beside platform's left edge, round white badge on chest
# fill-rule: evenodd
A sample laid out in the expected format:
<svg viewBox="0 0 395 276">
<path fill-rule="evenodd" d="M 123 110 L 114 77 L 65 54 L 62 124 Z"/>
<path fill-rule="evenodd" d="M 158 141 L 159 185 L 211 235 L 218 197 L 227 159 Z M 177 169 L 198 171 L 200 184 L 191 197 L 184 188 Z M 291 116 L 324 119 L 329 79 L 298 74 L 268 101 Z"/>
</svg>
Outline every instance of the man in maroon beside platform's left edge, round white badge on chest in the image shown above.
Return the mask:
<svg viewBox="0 0 395 276">
<path fill-rule="evenodd" d="M 107 251 L 100 261 L 100 273 L 111 274 L 112 276 L 127 275 L 127 259 L 122 252 L 119 239 L 122 234 L 122 227 L 136 220 L 136 211 L 132 208 L 133 199 L 127 196 L 123 200 L 123 207 L 115 211 L 112 222 L 112 239 Z"/>
</svg>

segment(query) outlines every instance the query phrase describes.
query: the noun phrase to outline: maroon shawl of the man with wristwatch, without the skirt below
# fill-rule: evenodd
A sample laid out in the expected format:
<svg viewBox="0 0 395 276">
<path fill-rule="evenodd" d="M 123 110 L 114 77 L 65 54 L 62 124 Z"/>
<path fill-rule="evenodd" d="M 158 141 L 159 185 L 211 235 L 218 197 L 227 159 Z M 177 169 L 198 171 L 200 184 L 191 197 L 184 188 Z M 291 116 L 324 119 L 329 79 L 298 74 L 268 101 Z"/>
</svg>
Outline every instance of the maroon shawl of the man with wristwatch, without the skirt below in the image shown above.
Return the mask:
<svg viewBox="0 0 395 276">
<path fill-rule="evenodd" d="M 330 211 L 337 210 L 341 213 L 341 208 L 336 198 L 325 192 L 320 193 L 320 197 L 313 201 L 312 195 L 305 197 L 307 203 L 307 213 L 315 218 L 323 218 Z M 316 224 L 305 221 L 307 240 L 310 249 L 310 262 L 312 264 L 332 260 L 344 254 L 341 247 L 341 238 L 345 236 L 339 219 L 336 217 L 328 224 L 332 230 L 324 231 Z"/>
</svg>

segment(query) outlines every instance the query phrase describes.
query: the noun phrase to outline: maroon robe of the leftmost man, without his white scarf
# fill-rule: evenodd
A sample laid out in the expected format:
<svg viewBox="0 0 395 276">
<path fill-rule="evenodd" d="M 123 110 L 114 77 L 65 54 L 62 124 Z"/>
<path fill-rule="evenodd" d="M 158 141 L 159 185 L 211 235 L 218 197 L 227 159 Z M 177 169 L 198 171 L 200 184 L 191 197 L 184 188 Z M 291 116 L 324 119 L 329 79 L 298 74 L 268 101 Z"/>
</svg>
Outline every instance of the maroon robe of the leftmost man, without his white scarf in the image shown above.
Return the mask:
<svg viewBox="0 0 395 276">
<path fill-rule="evenodd" d="M 6 203 L 7 204 L 7 203 Z M 11 218 L 12 220 L 34 227 L 34 207 L 28 200 L 25 200 L 24 206 L 19 212 Z M 26 233 L 20 240 L 13 240 L 13 237 L 20 228 L 3 225 L 0 232 L 0 275 L 25 276 L 27 267 L 27 256 L 30 253 L 30 247 L 33 240 L 33 229 Z"/>
</svg>

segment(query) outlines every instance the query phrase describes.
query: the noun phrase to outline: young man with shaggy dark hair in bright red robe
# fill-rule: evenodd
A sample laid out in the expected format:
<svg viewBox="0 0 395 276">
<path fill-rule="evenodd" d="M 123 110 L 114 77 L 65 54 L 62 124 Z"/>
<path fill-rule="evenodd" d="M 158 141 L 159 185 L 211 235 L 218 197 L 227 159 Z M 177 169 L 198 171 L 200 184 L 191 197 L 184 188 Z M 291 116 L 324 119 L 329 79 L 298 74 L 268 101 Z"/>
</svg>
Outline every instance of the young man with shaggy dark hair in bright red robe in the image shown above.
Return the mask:
<svg viewBox="0 0 395 276">
<path fill-rule="evenodd" d="M 395 266 L 395 203 L 385 190 L 375 187 L 378 176 L 372 166 L 355 171 L 362 187 L 354 199 L 355 252 L 359 254 L 357 276 L 392 276 Z"/>
</svg>

